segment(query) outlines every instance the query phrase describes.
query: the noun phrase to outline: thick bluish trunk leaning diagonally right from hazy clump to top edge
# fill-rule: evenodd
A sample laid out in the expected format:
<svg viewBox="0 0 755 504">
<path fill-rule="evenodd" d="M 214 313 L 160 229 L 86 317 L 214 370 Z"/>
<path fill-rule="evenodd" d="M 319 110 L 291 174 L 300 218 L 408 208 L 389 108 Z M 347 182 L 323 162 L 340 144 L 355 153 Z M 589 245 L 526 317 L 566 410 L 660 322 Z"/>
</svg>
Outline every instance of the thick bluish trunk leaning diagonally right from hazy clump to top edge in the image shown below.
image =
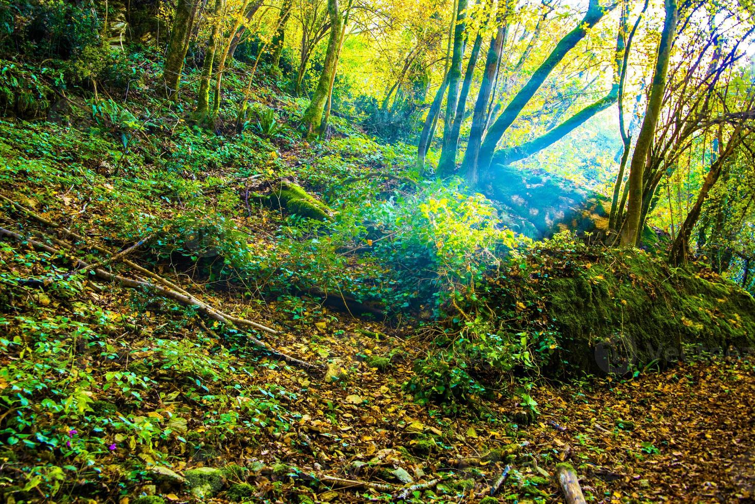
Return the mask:
<svg viewBox="0 0 755 504">
<path fill-rule="evenodd" d="M 513 121 L 516 120 L 522 109 L 529 103 L 529 100 L 532 100 L 535 92 L 543 85 L 550 72 L 584 38 L 584 35 L 587 34 L 587 29 L 595 26 L 610 9 L 611 7 L 601 7 L 598 0 L 590 0 L 590 7 L 587 8 L 587 14 L 584 15 L 584 19 L 556 44 L 556 47 L 553 48 L 553 51 L 550 52 L 546 60 L 538 66 L 538 69 L 535 70 L 529 81 L 513 97 L 513 100 L 504 109 L 504 112 L 488 128 L 485 140 L 483 140 L 482 146 L 479 149 L 478 171 L 487 171 L 501 137 L 504 136 L 504 133 L 513 124 Z"/>
</svg>

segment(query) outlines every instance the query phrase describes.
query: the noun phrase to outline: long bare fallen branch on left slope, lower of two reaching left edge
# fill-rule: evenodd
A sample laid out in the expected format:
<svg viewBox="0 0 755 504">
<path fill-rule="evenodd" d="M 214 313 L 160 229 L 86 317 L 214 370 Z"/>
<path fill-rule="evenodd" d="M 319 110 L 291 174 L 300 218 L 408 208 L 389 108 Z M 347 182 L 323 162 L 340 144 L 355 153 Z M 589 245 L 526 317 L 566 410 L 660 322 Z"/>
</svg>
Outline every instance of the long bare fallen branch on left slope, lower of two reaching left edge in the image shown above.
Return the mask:
<svg viewBox="0 0 755 504">
<path fill-rule="evenodd" d="M 168 287 L 163 287 L 161 285 L 151 284 L 147 281 L 134 280 L 133 278 L 126 278 L 121 275 L 115 275 L 113 273 L 106 272 L 105 270 L 100 269 L 100 268 L 92 268 L 90 264 L 86 263 L 85 261 L 81 259 L 72 257 L 69 254 L 63 253 L 61 250 L 58 250 L 40 241 L 33 240 L 32 238 L 25 238 L 22 235 L 19 235 L 18 233 L 9 231 L 8 229 L 0 228 L 0 235 L 14 238 L 15 240 L 20 241 L 20 242 L 25 241 L 33 245 L 34 247 L 37 247 L 41 250 L 45 250 L 45 252 L 48 252 L 50 254 L 67 256 L 69 257 L 70 260 L 74 262 L 75 266 L 79 266 L 82 269 L 89 269 L 91 271 L 94 271 L 94 274 L 97 275 L 97 277 L 102 278 L 103 280 L 117 281 L 120 284 L 124 285 L 125 287 L 146 288 L 149 290 L 153 290 L 154 292 L 158 293 L 162 297 L 167 297 L 168 299 L 177 301 L 181 304 L 196 306 L 199 309 L 199 312 L 202 312 L 203 314 L 207 315 L 209 318 L 212 318 L 213 320 L 223 322 L 225 324 L 231 324 L 231 325 L 233 325 L 234 323 L 242 322 L 243 324 L 250 325 L 251 327 L 257 327 L 257 328 L 261 327 L 263 329 L 267 329 L 268 331 L 273 331 L 272 329 L 268 329 L 267 327 L 257 324 L 256 322 L 247 321 L 241 318 L 231 317 L 230 315 L 226 315 L 223 312 L 219 312 L 218 310 L 212 308 L 208 304 L 204 303 L 201 300 L 196 299 L 196 297 L 193 297 L 191 295 L 186 295 L 186 294 L 177 292 L 176 290 L 171 290 Z M 273 332 L 275 333 L 276 331 L 273 331 Z M 266 352 L 270 352 L 270 354 L 275 355 L 276 357 L 280 358 L 282 361 L 286 361 L 290 364 L 295 364 L 299 367 L 304 367 L 304 369 L 307 369 L 307 370 L 322 370 L 322 366 L 319 366 L 317 364 L 310 364 L 309 362 L 305 362 L 305 361 L 301 361 L 300 359 L 291 357 L 291 355 L 287 355 L 275 349 L 272 349 L 270 348 L 270 346 L 267 346 L 266 343 L 263 343 L 262 341 L 257 340 L 257 338 L 249 334 L 247 334 L 247 337 L 251 341 L 251 343 L 254 343 L 254 345 L 260 347 L 260 349 L 263 349 Z"/>
</svg>

